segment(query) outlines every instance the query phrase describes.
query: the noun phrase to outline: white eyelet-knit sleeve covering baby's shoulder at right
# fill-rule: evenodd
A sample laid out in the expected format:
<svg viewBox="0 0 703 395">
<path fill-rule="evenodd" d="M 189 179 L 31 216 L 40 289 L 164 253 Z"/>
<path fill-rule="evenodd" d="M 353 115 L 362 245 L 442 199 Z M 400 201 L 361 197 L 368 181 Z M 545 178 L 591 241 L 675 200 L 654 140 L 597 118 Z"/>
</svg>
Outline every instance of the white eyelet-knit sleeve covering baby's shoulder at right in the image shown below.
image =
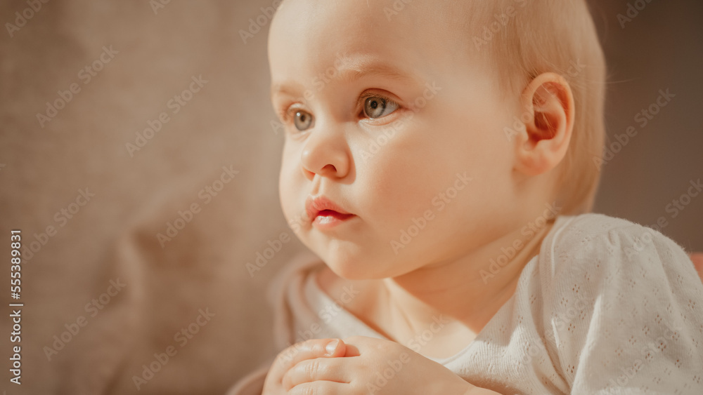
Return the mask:
<svg viewBox="0 0 703 395">
<path fill-rule="evenodd" d="M 538 317 L 572 389 L 595 393 L 616 380 L 623 393 L 659 389 L 701 371 L 703 284 L 668 237 L 607 215 L 559 217 L 537 267 L 525 276 L 520 311 Z M 641 371 L 621 375 L 630 368 Z"/>
</svg>

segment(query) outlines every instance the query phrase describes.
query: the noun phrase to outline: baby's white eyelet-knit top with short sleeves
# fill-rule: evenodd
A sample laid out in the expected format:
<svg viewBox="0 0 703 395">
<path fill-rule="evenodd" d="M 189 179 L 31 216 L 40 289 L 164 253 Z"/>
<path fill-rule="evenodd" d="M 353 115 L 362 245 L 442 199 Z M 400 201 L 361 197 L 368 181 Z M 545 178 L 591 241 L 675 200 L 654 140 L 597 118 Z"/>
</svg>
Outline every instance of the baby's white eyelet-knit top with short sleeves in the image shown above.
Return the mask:
<svg viewBox="0 0 703 395">
<path fill-rule="evenodd" d="M 321 265 L 300 257 L 272 283 L 279 349 L 309 337 L 385 339 L 318 287 Z M 430 359 L 501 394 L 701 395 L 703 283 L 659 232 L 606 215 L 557 217 L 475 340 Z M 260 394 L 266 370 L 230 394 Z"/>
</svg>

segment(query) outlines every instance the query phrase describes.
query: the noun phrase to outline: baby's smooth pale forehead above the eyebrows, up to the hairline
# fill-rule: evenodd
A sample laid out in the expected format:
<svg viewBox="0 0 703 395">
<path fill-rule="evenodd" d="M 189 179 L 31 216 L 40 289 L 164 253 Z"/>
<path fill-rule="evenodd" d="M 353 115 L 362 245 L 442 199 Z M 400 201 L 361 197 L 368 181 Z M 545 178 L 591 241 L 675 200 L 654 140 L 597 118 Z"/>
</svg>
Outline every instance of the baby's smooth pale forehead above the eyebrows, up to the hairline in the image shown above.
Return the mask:
<svg viewBox="0 0 703 395">
<path fill-rule="evenodd" d="M 451 6 L 455 2 L 398 3 L 404 6 L 394 8 L 394 1 L 285 0 L 269 35 L 272 73 L 330 67 L 345 53 L 433 68 L 458 58 L 466 39 L 450 28 L 456 23 L 450 12 L 457 8 Z"/>
</svg>

